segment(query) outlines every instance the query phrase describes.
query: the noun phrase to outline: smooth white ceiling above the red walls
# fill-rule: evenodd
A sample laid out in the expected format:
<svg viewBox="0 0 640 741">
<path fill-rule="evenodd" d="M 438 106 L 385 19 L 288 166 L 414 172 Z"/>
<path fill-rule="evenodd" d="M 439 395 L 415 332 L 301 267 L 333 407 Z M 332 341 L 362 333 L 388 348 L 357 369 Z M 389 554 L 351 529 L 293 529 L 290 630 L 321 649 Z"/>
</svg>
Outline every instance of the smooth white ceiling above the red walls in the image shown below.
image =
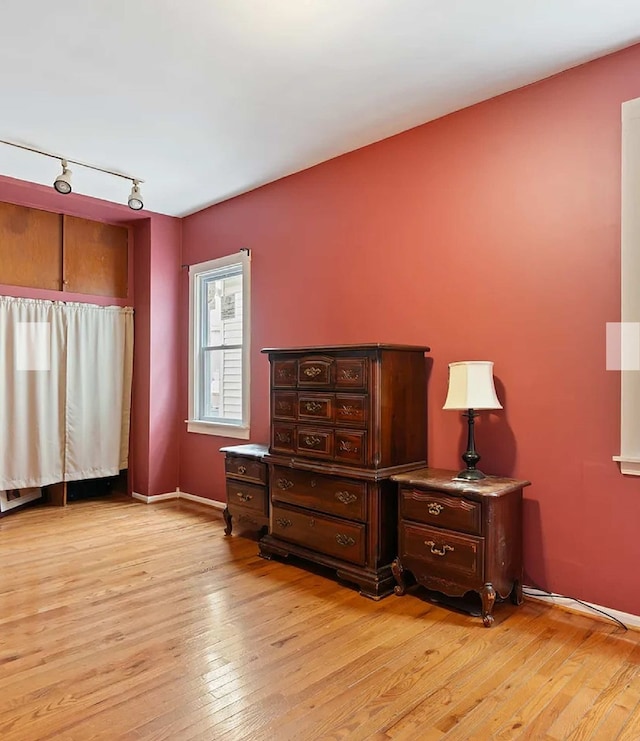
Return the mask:
<svg viewBox="0 0 640 741">
<path fill-rule="evenodd" d="M 183 216 L 637 41 L 638 0 L 5 2 L 0 139 Z M 58 172 L 0 145 L 0 174 Z"/>
</svg>

